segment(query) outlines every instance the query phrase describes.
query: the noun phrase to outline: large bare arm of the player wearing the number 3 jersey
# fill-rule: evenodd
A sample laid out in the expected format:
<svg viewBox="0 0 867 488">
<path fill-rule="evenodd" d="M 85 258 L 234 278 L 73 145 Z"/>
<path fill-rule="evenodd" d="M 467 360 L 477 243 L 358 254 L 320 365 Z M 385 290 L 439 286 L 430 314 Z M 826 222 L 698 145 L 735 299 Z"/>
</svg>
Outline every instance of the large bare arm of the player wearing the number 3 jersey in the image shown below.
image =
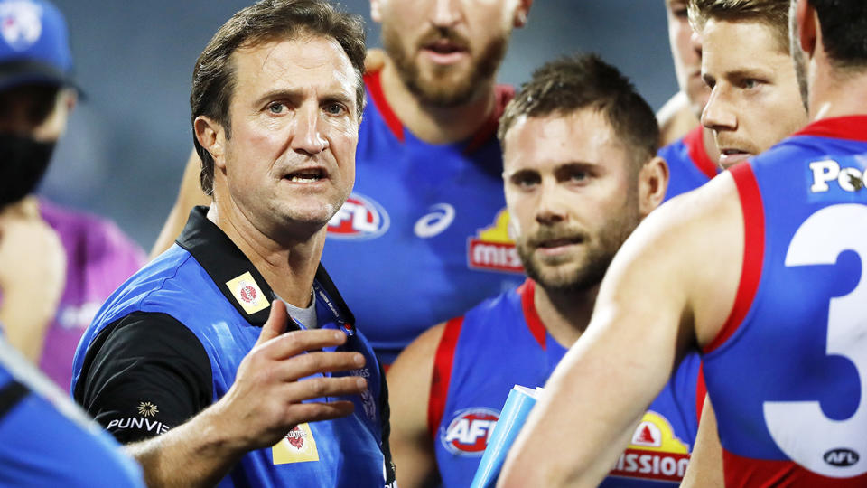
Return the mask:
<svg viewBox="0 0 867 488">
<path fill-rule="evenodd" d="M 732 309 L 742 226 L 731 174 L 639 225 L 611 263 L 587 332 L 545 385 L 499 486 L 601 481 L 679 356 L 710 343 Z"/>
</svg>

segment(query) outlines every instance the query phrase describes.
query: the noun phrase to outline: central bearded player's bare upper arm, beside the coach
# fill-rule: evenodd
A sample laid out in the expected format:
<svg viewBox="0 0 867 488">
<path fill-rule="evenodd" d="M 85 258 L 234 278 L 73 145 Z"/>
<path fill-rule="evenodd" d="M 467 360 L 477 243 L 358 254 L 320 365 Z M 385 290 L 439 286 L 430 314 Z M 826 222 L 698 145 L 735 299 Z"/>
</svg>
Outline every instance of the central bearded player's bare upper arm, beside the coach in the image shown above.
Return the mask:
<svg viewBox="0 0 867 488">
<path fill-rule="evenodd" d="M 433 361 L 444 324 L 418 336 L 388 370 L 391 406 L 391 448 L 402 488 L 428 486 L 436 476 L 433 439 L 428 430 Z"/>
</svg>

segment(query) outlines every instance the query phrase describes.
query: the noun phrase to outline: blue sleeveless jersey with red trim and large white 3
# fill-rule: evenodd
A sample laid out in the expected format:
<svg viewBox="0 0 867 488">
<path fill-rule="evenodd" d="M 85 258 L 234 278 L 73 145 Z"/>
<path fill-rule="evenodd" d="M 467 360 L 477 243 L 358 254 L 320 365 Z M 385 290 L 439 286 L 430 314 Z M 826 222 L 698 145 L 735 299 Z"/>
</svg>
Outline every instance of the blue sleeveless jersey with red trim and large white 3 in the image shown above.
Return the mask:
<svg viewBox="0 0 867 488">
<path fill-rule="evenodd" d="M 867 485 L 867 117 L 732 168 L 745 253 L 705 348 L 727 486 Z"/>
</svg>

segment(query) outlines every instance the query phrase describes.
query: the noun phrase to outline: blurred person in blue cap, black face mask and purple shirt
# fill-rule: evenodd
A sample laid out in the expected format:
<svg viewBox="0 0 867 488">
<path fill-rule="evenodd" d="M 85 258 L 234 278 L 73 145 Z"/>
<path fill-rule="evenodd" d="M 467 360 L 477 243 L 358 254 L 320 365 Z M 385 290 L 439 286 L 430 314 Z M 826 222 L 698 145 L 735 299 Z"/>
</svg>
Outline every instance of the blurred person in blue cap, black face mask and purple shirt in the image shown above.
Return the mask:
<svg viewBox="0 0 867 488">
<path fill-rule="evenodd" d="M 66 23 L 44 0 L 0 0 L 0 323 L 61 388 L 98 306 L 144 263 L 113 223 L 35 196 L 75 107 Z"/>
</svg>

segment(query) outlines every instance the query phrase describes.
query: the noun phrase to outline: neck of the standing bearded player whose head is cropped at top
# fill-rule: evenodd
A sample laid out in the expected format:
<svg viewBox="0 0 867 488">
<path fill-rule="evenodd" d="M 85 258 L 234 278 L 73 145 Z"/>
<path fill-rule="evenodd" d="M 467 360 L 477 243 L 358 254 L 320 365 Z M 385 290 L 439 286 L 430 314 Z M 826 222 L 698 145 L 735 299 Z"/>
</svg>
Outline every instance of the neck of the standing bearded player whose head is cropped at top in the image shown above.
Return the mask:
<svg viewBox="0 0 867 488">
<path fill-rule="evenodd" d="M 494 109 L 493 80 L 470 101 L 444 108 L 415 98 L 391 61 L 386 61 L 380 77 L 382 91 L 397 118 L 414 136 L 430 144 L 449 144 L 470 138 L 488 121 Z"/>
</svg>

